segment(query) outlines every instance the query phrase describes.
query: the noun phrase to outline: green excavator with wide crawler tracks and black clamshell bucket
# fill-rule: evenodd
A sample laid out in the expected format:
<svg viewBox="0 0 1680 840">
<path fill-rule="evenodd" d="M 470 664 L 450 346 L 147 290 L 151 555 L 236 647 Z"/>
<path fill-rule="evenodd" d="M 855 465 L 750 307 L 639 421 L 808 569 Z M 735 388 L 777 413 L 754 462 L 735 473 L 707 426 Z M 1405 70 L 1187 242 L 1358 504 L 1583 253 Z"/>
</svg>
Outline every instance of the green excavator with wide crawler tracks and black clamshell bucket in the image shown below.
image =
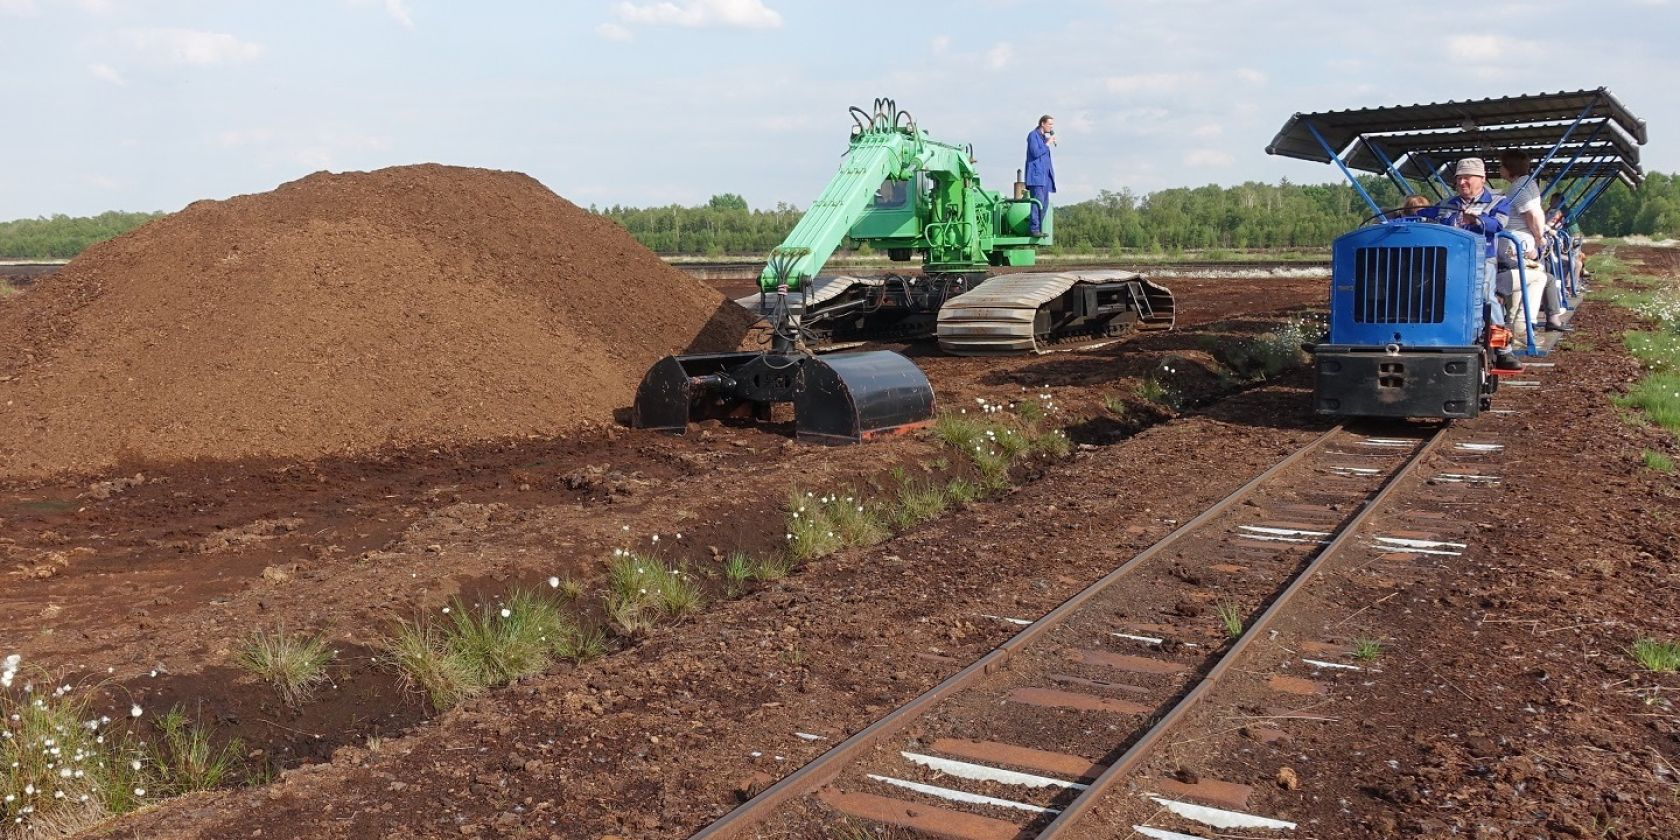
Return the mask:
<svg viewBox="0 0 1680 840">
<path fill-rule="evenodd" d="M 1173 294 L 1136 272 L 1011 272 L 1052 244 L 1053 212 L 1028 235 L 1033 200 L 981 188 L 971 146 L 941 143 L 892 99 L 852 108 L 840 171 L 778 245 L 759 292 L 741 299 L 769 326 L 768 348 L 667 356 L 637 388 L 632 425 L 682 432 L 724 417 L 769 420 L 793 403 L 801 440 L 855 444 L 932 418 L 927 376 L 894 351 L 822 353 L 840 341 L 937 336 L 956 354 L 1043 353 L 1173 326 Z M 921 274 L 822 276 L 850 239 Z"/>
</svg>

